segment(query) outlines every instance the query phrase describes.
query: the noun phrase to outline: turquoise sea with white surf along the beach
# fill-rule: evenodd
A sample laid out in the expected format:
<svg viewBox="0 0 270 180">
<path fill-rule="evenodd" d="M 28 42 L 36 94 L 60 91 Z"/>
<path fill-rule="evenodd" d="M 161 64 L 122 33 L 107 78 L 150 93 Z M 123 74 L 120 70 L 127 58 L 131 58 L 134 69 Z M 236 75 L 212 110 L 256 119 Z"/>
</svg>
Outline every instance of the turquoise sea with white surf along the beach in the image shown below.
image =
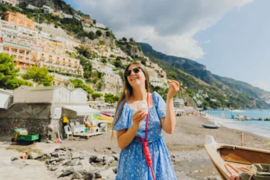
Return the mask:
<svg viewBox="0 0 270 180">
<path fill-rule="evenodd" d="M 239 129 L 247 132 L 252 132 L 264 137 L 270 137 L 270 121 L 261 120 L 234 120 L 232 115 L 245 115 L 247 117 L 270 117 L 270 110 L 243 110 L 242 112 L 231 112 L 226 110 L 207 110 L 204 111 L 206 118 L 211 122 Z"/>
</svg>

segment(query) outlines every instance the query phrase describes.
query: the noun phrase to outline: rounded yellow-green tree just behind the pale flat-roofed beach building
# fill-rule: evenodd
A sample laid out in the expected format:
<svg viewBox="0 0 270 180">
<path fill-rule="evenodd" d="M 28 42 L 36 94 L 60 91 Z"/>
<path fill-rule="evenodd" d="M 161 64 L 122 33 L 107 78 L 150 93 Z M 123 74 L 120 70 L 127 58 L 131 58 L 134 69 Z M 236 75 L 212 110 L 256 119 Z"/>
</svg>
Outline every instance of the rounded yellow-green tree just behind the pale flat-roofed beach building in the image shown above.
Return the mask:
<svg viewBox="0 0 270 180">
<path fill-rule="evenodd" d="M 53 75 L 49 75 L 46 68 L 38 68 L 32 66 L 31 68 L 26 68 L 26 73 L 21 75 L 25 80 L 33 80 L 33 82 L 38 83 L 38 85 L 50 86 L 54 79 Z"/>
</svg>

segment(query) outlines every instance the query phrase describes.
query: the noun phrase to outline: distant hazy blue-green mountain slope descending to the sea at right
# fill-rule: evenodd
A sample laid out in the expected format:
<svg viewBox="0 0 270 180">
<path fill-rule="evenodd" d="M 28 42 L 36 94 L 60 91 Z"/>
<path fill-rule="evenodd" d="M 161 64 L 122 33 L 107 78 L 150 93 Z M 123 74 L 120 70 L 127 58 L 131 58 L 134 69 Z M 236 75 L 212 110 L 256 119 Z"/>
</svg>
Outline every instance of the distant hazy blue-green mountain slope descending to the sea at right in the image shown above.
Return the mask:
<svg viewBox="0 0 270 180">
<path fill-rule="evenodd" d="M 270 107 L 264 102 L 270 92 L 237 80 L 212 75 L 209 70 L 206 70 L 205 65 L 187 58 L 175 57 L 154 51 L 147 43 L 139 43 L 139 45 L 144 54 L 158 63 L 161 68 L 166 70 L 166 73 L 177 72 L 174 78 L 182 80 L 183 86 L 186 86 L 192 91 L 192 93 L 189 93 L 190 96 L 193 98 L 200 97 L 199 99 L 202 105 L 199 105 L 199 107 L 233 107 L 242 109 L 268 109 Z M 188 73 L 190 76 L 185 75 L 183 72 Z M 201 91 L 204 93 L 207 92 L 208 97 L 200 96 L 198 92 Z M 215 102 L 215 100 L 217 101 Z"/>
</svg>

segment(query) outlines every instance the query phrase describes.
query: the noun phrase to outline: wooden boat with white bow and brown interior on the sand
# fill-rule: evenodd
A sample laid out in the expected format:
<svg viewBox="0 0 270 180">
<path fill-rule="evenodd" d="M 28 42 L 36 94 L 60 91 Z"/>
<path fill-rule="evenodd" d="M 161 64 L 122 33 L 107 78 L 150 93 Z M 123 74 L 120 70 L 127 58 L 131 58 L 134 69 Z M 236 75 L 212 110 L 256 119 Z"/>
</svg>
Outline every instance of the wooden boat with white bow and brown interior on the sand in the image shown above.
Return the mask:
<svg viewBox="0 0 270 180">
<path fill-rule="evenodd" d="M 270 164 L 270 151 L 218 144 L 212 136 L 206 136 L 205 148 L 223 180 L 229 180 L 231 175 L 238 176 L 234 169 L 244 169 L 251 164 Z"/>
</svg>

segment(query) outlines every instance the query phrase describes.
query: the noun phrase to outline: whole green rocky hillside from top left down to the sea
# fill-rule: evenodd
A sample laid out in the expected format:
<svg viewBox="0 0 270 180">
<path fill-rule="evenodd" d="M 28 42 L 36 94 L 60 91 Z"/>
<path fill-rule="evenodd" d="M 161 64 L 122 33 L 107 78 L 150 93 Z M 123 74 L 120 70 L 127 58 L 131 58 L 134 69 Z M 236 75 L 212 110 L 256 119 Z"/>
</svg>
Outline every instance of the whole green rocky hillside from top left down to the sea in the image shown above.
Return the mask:
<svg viewBox="0 0 270 180">
<path fill-rule="evenodd" d="M 26 6 L 28 6 L 28 4 L 39 8 L 43 7 L 43 5 L 47 5 L 53 8 L 55 12 L 62 11 L 70 16 L 80 15 L 82 18 L 89 19 L 91 23 L 84 23 L 76 18 L 63 18 L 53 14 L 44 14 L 41 9 L 27 9 Z M 85 49 L 77 49 L 77 53 L 83 57 L 78 54 L 72 55 L 75 55 L 74 57 L 79 58 L 81 61 L 85 71 L 85 82 L 97 90 L 104 89 L 106 80 L 103 77 L 104 73 L 92 70 L 93 66 L 97 67 L 97 65 L 101 65 L 107 68 L 110 67 L 109 69 L 112 69 L 112 71 L 119 70 L 119 75 L 122 75 L 124 64 L 136 60 L 141 60 L 142 63 L 146 63 L 144 58 L 144 55 L 146 55 L 153 63 L 157 63 L 159 67 L 166 71 L 169 79 L 175 79 L 183 83 L 180 96 L 185 100 L 186 105 L 204 107 L 205 109 L 224 107 L 250 109 L 269 108 L 266 102 L 270 99 L 270 92 L 265 92 L 264 90 L 254 88 L 252 85 L 237 80 L 213 75 L 206 69 L 205 65 L 188 58 L 175 57 L 154 51 L 148 44 L 136 43 L 133 38 L 129 40 L 126 38 L 117 40 L 109 28 L 100 23 L 99 26 L 96 26 L 97 21 L 91 19 L 90 15 L 76 11 L 70 5 L 66 4 L 65 1 L 23 0 L 21 4 L 19 4 L 19 8 L 0 4 L 2 17 L 5 11 L 21 12 L 22 14 L 26 14 L 28 18 L 33 19 L 33 21 L 47 23 L 55 28 L 62 28 L 66 31 L 68 36 L 77 38 L 77 41 L 80 40 Z M 117 55 L 111 55 L 108 58 L 104 58 L 104 54 L 99 55 L 99 58 L 101 58 L 99 60 L 95 53 L 92 55 L 94 51 L 91 50 L 91 47 L 93 47 L 93 45 L 97 45 L 100 52 L 109 51 L 109 48 L 112 48 L 115 52 L 119 52 L 117 48 L 121 48 L 121 51 L 124 51 L 129 57 L 121 58 Z M 93 60 L 96 61 L 95 65 Z M 158 87 L 152 88 L 158 90 Z M 162 93 L 166 93 L 166 90 Z"/>
</svg>

